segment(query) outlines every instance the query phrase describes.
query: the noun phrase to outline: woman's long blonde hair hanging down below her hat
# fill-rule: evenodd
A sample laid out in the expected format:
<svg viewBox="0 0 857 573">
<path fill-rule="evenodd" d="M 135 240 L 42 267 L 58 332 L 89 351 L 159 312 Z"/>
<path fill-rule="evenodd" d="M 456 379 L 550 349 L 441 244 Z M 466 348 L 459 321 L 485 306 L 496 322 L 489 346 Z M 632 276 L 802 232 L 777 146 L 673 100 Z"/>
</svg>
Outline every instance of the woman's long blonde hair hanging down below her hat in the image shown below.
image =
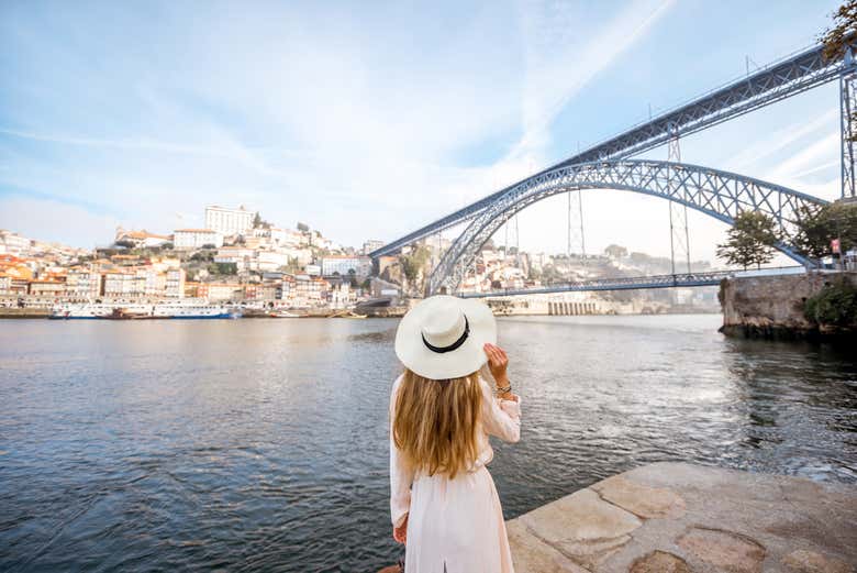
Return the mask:
<svg viewBox="0 0 857 573">
<path fill-rule="evenodd" d="M 404 460 L 429 475 L 465 471 L 478 454 L 479 373 L 436 381 L 405 368 L 396 396 L 392 438 Z"/>
</svg>

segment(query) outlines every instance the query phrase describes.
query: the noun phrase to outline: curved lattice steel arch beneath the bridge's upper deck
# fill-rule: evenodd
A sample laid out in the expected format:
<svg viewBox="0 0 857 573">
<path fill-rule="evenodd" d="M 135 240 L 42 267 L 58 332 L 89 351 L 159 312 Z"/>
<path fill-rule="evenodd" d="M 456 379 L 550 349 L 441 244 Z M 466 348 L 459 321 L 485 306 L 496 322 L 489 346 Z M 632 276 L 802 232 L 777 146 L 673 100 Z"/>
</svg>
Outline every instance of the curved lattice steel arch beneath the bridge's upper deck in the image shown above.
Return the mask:
<svg viewBox="0 0 857 573">
<path fill-rule="evenodd" d="M 429 279 L 429 294 L 457 290 L 481 246 L 505 221 L 536 201 L 582 189 L 617 189 L 650 195 L 703 212 L 727 224 L 742 211 L 771 217 L 782 236 L 792 236 L 802 208 L 827 201 L 753 177 L 648 159 L 599 161 L 539 173 L 508 189 L 487 206 L 444 253 Z M 801 264 L 812 264 L 788 240 L 776 245 Z"/>
</svg>

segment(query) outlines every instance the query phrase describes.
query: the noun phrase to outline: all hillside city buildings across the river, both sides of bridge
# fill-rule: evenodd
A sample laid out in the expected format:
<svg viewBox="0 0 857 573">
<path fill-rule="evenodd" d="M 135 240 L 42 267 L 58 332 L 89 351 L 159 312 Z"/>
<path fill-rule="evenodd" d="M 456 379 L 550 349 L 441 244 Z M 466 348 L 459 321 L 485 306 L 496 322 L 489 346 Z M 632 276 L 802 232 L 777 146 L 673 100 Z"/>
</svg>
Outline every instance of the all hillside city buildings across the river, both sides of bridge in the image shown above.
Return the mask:
<svg viewBox="0 0 857 573">
<path fill-rule="evenodd" d="M 204 228 L 176 229 L 171 234 L 119 228 L 111 246 L 93 251 L 0 230 L 0 306 L 21 304 L 21 299 L 49 306 L 187 298 L 265 308 L 349 308 L 370 298 L 422 296 L 431 267 L 450 244 L 436 238 L 405 247 L 401 255 L 372 261 L 368 253 L 382 246 L 381 241 L 368 240 L 355 250 L 302 223 L 286 229 L 261 221 L 244 207 L 207 207 L 204 217 Z M 665 261 L 628 255 L 622 247 L 599 256 L 569 257 L 519 253 L 489 243 L 460 289 L 490 293 L 556 280 L 664 274 L 668 272 Z M 670 304 L 716 304 L 713 293 L 704 290 L 676 290 L 669 297 L 576 293 L 537 300 L 521 297 L 507 306 L 624 312 L 660 311 Z"/>
</svg>

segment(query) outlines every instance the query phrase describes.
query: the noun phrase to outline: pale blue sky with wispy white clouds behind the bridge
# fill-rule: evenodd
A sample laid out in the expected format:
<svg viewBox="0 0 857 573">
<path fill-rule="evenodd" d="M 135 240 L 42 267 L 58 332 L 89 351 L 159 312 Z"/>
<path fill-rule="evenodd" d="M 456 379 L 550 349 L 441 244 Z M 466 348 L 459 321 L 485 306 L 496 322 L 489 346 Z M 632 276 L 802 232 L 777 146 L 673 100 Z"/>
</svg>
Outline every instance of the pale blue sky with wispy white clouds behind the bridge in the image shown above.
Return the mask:
<svg viewBox="0 0 857 573">
<path fill-rule="evenodd" d="M 391 240 L 747 56 L 811 45 L 837 4 L 7 1 L 0 228 L 92 246 L 243 203 L 345 244 Z M 837 108 L 824 86 L 683 140 L 682 157 L 835 198 Z M 666 202 L 583 201 L 590 252 L 669 252 Z M 563 252 L 564 205 L 521 213 L 521 246 Z M 690 224 L 694 258 L 713 258 L 725 227 Z"/>
</svg>

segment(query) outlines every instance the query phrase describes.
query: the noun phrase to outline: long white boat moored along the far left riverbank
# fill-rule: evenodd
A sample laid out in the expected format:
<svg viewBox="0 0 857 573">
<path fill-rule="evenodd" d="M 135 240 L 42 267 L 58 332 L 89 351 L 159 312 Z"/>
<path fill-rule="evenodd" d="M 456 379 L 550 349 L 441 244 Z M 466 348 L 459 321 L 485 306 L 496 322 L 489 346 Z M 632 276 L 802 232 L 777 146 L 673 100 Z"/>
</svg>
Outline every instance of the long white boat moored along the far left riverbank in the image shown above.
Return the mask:
<svg viewBox="0 0 857 573">
<path fill-rule="evenodd" d="M 105 319 L 219 319 L 241 318 L 241 310 L 204 301 L 165 301 L 154 304 L 80 302 L 55 305 L 48 318 L 54 320 Z"/>
</svg>

